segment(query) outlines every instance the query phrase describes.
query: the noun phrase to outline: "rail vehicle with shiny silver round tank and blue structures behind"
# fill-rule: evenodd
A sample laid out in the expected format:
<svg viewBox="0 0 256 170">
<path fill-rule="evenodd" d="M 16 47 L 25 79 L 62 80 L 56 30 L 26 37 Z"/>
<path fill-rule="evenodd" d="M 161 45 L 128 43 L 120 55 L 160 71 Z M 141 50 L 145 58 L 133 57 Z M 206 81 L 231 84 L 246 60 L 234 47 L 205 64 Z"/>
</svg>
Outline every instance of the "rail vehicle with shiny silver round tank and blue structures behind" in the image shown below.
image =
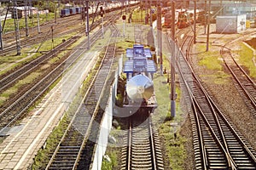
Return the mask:
<svg viewBox="0 0 256 170">
<path fill-rule="evenodd" d="M 126 74 L 124 107 L 130 112 L 135 110 L 153 112 L 157 107 L 154 96 L 153 77 L 156 66 L 149 48 L 135 44 L 126 49 L 124 73 Z M 140 112 L 142 112 L 140 110 Z"/>
</svg>

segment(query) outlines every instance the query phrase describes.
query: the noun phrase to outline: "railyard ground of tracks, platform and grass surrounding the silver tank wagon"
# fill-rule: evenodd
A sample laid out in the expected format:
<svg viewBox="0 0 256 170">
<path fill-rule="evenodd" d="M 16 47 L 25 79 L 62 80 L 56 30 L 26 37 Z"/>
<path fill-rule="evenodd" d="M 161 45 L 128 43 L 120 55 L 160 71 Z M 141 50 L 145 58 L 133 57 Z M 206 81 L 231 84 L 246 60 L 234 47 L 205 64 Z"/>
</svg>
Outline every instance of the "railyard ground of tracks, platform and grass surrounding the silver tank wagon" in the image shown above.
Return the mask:
<svg viewBox="0 0 256 170">
<path fill-rule="evenodd" d="M 156 21 L 152 27 L 150 23 L 145 25 L 142 16 L 145 17 L 146 14 L 139 8 L 140 5 L 142 3 L 134 7 L 128 6 L 122 11 L 117 9 L 116 12 L 104 14 L 104 25 L 101 23 L 102 18 L 98 17 L 95 21 L 98 24 L 90 30 L 90 45 L 88 32 L 85 37 L 84 25 L 78 16 L 57 19 L 57 23 L 58 20 L 63 24 L 66 23 L 65 20 L 78 23 L 76 28 L 71 26 L 68 27 L 70 30 L 67 30 L 63 29 L 64 25 L 60 26 L 58 31 L 56 25 L 55 32 L 51 30 L 53 23 L 46 24 L 45 35 L 42 29 L 40 34 L 24 37 L 27 40 L 24 43 L 23 39 L 21 40 L 22 57 L 15 55 L 15 42 L 8 42 L 9 48 L 3 49 L 1 58 L 7 57 L 11 62 L 3 59 L 0 68 L 3 83 L 0 87 L 3 123 L 0 130 L 0 169 L 255 169 L 256 65 L 254 49 L 247 43 L 253 42 L 255 28 L 236 33 L 218 33 L 216 24 L 211 23 L 208 39 L 210 43 L 207 44 L 206 26 L 198 23 L 196 27 L 191 25 L 183 29 L 176 28 L 173 45 L 172 29 L 162 28 L 160 38 Z M 147 9 L 144 10 L 146 11 Z M 132 16 L 131 20 L 125 22 L 124 14 Z M 90 24 L 92 22 L 90 20 Z M 195 28 L 196 39 L 193 39 Z M 50 31 L 55 34 L 49 37 Z M 60 42 L 57 42 L 58 35 L 62 35 L 63 31 L 67 37 L 61 37 Z M 77 34 L 79 31 L 82 33 Z M 40 39 L 38 36 L 44 38 Z M 38 42 L 33 42 L 34 38 Z M 46 42 L 46 39 L 49 42 Z M 6 38 L 6 42 L 7 40 L 10 38 Z M 25 42 L 28 44 L 27 48 Z M 32 43 L 38 43 L 38 47 L 30 48 Z M 52 46 L 41 51 L 44 43 Z M 60 45 L 57 45 L 58 43 Z M 157 72 L 149 77 L 154 82 L 157 108 L 148 112 L 147 109 L 142 109 L 143 101 L 141 109 L 134 111 L 136 114 L 129 123 L 130 117 L 127 115 L 132 114 L 133 110 L 123 109 L 124 105 L 127 105 L 126 92 L 122 96 L 125 86 L 121 87 L 119 83 L 122 84 L 120 79 L 123 79 L 124 84 L 130 81 L 129 76 L 125 78 L 125 74 L 120 70 L 127 61 L 126 48 L 132 48 L 134 43 L 150 48 L 153 54 L 152 60 Z M 114 48 L 108 45 L 114 45 Z M 161 54 L 158 51 L 160 48 Z M 38 53 L 34 55 L 35 49 L 41 54 L 45 53 L 43 57 L 38 56 Z M 23 56 L 27 53 L 26 50 L 29 50 L 29 55 Z M 110 52 L 113 61 L 107 57 Z M 175 64 L 172 64 L 173 55 Z M 44 60 L 39 61 L 40 58 Z M 137 68 L 140 71 L 133 70 L 131 77 L 137 74 L 148 77 L 148 71 L 142 70 L 145 67 L 141 67 L 141 61 L 134 58 L 133 63 L 138 63 Z M 109 73 L 106 70 L 107 65 L 110 66 Z M 175 80 L 172 77 L 173 72 L 170 71 L 173 65 L 176 69 Z M 243 71 L 237 72 L 238 65 Z M 22 70 L 26 66 L 30 68 L 29 71 Z M 61 68 L 59 72 L 46 77 L 58 67 Z M 22 74 L 17 72 L 19 70 Z M 13 71 L 19 76 L 11 73 Z M 39 76 L 35 75 L 36 73 Z M 32 74 L 34 78 L 19 84 Z M 122 78 L 118 80 L 117 75 Z M 103 81 L 103 76 L 107 77 L 107 82 Z M 9 82 L 8 77 L 11 77 Z M 50 83 L 40 81 L 44 79 Z M 177 93 L 177 98 L 174 98 L 175 115 L 172 113 L 170 100 L 172 81 Z M 90 85 L 90 82 L 93 83 Z M 35 84 L 41 89 L 36 90 Z M 143 91 L 141 85 L 136 88 L 137 93 L 144 95 L 143 93 L 147 92 L 148 84 L 143 86 Z M 30 91 L 32 94 L 29 94 Z M 26 95 L 23 98 L 28 99 L 27 102 L 22 100 L 23 95 Z M 33 95 L 38 97 L 32 97 Z M 132 100 L 132 97 L 129 96 L 129 99 Z M 134 102 L 129 101 L 129 105 L 135 105 Z M 149 113 L 148 117 L 152 116 L 152 122 L 147 116 L 143 116 L 147 115 L 145 111 Z M 132 119 L 136 121 L 132 122 Z M 151 122 L 149 127 L 150 124 L 153 125 L 153 128 L 149 128 L 149 131 L 152 131 L 149 137 L 153 138 L 147 142 L 148 125 L 143 123 L 144 119 Z M 102 136 L 102 132 L 106 133 L 107 137 Z M 130 139 L 131 136 L 133 139 Z M 103 150 L 106 147 L 105 153 Z M 152 149 L 154 147 L 155 150 Z M 147 151 L 151 153 L 152 159 L 149 158 L 150 154 L 145 156 Z"/>
</svg>

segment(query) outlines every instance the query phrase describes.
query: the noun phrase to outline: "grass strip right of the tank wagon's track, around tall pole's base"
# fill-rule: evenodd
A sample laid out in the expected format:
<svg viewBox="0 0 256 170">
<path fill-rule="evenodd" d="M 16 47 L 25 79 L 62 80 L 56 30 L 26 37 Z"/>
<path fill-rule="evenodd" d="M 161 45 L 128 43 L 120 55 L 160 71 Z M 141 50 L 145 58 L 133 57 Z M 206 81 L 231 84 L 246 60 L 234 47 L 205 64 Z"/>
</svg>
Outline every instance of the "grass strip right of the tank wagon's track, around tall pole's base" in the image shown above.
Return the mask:
<svg viewBox="0 0 256 170">
<path fill-rule="evenodd" d="M 176 116 L 171 117 L 170 86 L 166 83 L 166 79 L 166 76 L 155 75 L 154 77 L 154 93 L 158 103 L 158 108 L 154 111 L 154 124 L 159 125 L 159 134 L 163 139 L 166 160 L 170 163 L 170 168 L 183 169 L 183 163 L 186 158 L 184 149 L 186 139 L 178 134 L 178 127 L 171 127 L 172 122 L 183 122 L 183 111 L 181 111 L 179 105 L 181 91 L 178 87 L 176 88 Z M 174 133 L 177 133 L 177 139 L 174 139 Z"/>
</svg>

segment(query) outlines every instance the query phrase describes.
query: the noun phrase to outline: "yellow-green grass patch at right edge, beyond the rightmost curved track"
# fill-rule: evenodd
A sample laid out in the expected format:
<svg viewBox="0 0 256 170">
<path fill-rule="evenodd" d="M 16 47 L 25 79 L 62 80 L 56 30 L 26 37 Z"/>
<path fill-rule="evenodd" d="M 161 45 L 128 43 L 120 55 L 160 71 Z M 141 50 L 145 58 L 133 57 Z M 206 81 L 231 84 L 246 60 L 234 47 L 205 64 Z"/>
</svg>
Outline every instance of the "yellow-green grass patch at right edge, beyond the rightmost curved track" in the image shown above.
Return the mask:
<svg viewBox="0 0 256 170">
<path fill-rule="evenodd" d="M 256 62 L 256 56 L 253 55 L 253 50 L 248 48 L 245 44 L 241 43 L 241 50 L 239 51 L 239 62 L 241 65 L 245 65 L 250 72 L 250 77 L 256 78 L 256 65 L 253 63 Z"/>
</svg>

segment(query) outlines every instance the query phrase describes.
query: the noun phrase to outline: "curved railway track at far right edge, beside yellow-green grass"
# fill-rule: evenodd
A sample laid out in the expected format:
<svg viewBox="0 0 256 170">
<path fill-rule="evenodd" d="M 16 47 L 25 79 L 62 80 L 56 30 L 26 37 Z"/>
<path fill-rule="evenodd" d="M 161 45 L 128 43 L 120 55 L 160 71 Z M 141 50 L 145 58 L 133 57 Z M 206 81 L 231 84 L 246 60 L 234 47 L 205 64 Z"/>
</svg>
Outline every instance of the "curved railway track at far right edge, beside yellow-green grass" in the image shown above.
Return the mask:
<svg viewBox="0 0 256 170">
<path fill-rule="evenodd" d="M 236 82 L 236 88 L 244 99 L 247 107 L 256 116 L 256 83 L 253 79 L 247 75 L 240 65 L 234 59 L 234 56 L 230 53 L 230 49 L 223 46 L 220 50 L 220 54 L 224 59 L 224 64 L 230 71 L 234 81 Z"/>
</svg>

